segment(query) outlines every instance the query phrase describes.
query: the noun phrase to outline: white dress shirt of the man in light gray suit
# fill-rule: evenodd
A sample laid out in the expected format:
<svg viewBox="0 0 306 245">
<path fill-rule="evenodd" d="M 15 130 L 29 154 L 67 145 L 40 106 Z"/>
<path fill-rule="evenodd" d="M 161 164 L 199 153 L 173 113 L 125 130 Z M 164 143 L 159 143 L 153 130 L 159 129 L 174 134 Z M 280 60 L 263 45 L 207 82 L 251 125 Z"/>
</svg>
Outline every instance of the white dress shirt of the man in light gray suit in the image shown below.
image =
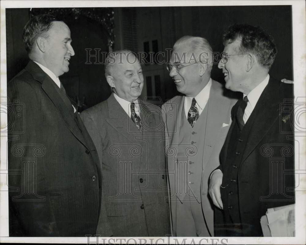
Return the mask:
<svg viewBox="0 0 306 245">
<path fill-rule="evenodd" d="M 194 97 L 196 99 L 196 108 L 198 108 L 199 111 L 199 116 L 201 115 L 204 107 L 207 104 L 207 101 L 209 99 L 209 92 L 210 92 L 210 88 L 211 88 L 211 78 L 209 79 L 207 85 L 200 91 L 200 93 L 198 93 L 196 95 L 196 97 Z M 191 103 L 192 103 L 192 98 L 193 97 L 188 97 L 185 96 L 185 100 L 184 100 L 184 110 L 185 110 L 185 114 L 186 114 L 186 118 L 188 119 L 188 111 L 190 109 Z"/>
</svg>

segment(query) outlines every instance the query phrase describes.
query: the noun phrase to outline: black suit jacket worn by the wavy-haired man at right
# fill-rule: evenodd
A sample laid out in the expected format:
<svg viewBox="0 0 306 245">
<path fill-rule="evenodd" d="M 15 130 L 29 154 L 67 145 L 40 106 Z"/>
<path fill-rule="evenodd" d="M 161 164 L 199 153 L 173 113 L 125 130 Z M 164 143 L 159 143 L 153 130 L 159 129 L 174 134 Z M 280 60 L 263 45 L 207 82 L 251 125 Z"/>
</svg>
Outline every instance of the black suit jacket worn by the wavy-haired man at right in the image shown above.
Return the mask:
<svg viewBox="0 0 306 245">
<path fill-rule="evenodd" d="M 220 153 L 219 169 L 223 172 L 223 187 L 230 182 L 233 168 L 233 164 L 226 164 L 226 157 L 233 128 L 237 124 L 238 103 L 233 106 L 233 123 Z M 262 234 L 260 218 L 265 215 L 267 208 L 294 203 L 294 134 L 291 112 L 293 85 L 270 77 L 244 126 L 249 128 L 249 135 L 244 142 L 244 152 L 240 153 L 242 158 L 237 182 L 239 212 L 245 236 Z M 277 172 L 276 166 L 280 172 Z M 228 192 L 227 188 L 221 188 L 226 219 L 229 215 L 229 204 L 226 202 Z M 220 217 L 216 218 L 220 221 Z"/>
</svg>

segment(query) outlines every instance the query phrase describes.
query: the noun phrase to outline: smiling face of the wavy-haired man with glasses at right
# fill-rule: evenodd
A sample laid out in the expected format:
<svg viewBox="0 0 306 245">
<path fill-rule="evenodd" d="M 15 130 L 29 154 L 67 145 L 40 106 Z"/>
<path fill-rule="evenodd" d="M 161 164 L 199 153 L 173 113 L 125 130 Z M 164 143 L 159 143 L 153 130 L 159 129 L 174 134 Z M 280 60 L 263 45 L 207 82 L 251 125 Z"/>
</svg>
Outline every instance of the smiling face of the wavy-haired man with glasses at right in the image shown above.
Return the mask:
<svg viewBox="0 0 306 245">
<path fill-rule="evenodd" d="M 223 63 L 222 60 L 219 61 L 218 68 L 222 69 L 224 74 L 225 87 L 232 91 L 244 92 L 244 83 L 247 78 L 246 55 L 233 55 L 238 54 L 238 50 L 241 44 L 241 40 L 235 40 L 232 43 L 228 43 L 223 52 L 227 53 L 228 61 Z"/>
</svg>

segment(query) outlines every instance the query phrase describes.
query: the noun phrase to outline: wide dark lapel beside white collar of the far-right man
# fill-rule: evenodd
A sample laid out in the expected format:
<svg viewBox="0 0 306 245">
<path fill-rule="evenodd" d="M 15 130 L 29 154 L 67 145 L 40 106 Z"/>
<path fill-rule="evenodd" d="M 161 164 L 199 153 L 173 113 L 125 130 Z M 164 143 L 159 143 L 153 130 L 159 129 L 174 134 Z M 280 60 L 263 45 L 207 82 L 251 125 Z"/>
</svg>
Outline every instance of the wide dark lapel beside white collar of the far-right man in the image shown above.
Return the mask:
<svg viewBox="0 0 306 245">
<path fill-rule="evenodd" d="M 244 126 L 248 127 L 248 122 L 251 123 L 242 162 L 251 154 L 279 116 L 280 99 L 278 89 L 278 82 L 270 77 L 267 87 L 263 90 L 250 118 Z"/>
</svg>

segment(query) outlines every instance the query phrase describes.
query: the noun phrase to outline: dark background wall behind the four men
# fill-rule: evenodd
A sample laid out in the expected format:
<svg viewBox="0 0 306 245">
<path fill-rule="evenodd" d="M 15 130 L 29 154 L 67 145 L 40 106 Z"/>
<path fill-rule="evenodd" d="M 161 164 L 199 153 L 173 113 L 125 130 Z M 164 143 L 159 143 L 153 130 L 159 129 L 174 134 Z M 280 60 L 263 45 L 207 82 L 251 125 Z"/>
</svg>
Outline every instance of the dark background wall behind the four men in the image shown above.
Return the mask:
<svg viewBox="0 0 306 245">
<path fill-rule="evenodd" d="M 270 70 L 277 79 L 293 79 L 291 6 L 203 6 L 203 7 L 131 7 L 114 10 L 114 49 L 134 52 L 164 52 L 184 36 L 205 37 L 213 51 L 222 52 L 222 33 L 234 23 L 264 27 L 272 34 L 278 54 Z M 107 18 L 107 16 L 106 16 Z M 7 79 L 16 75 L 28 62 L 22 42 L 22 30 L 29 20 L 29 9 L 6 9 Z M 60 77 L 72 98 L 85 98 L 88 107 L 107 99 L 110 94 L 104 78 L 104 66 L 85 65 L 85 48 L 107 50 L 103 28 L 88 19 L 67 23 L 76 55 L 70 71 Z M 169 58 L 169 57 L 168 57 Z M 168 60 L 165 60 L 168 61 Z M 163 102 L 177 94 L 166 65 L 143 65 L 145 85 L 142 98 L 158 96 Z M 217 65 L 211 77 L 223 82 Z"/>
</svg>

